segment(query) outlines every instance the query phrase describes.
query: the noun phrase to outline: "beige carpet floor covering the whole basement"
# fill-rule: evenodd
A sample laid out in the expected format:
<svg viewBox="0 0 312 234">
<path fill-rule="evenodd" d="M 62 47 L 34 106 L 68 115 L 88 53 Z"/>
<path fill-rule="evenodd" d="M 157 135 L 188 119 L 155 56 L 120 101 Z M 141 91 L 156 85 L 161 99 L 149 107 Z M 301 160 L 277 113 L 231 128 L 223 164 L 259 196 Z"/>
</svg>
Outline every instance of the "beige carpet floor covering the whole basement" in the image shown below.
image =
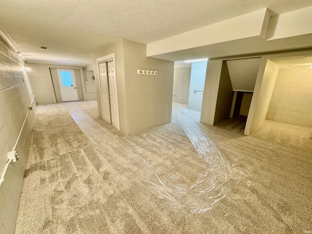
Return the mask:
<svg viewBox="0 0 312 234">
<path fill-rule="evenodd" d="M 16 234 L 311 233 L 310 129 L 244 124 L 174 105 L 125 136 L 95 101 L 39 105 Z"/>
</svg>

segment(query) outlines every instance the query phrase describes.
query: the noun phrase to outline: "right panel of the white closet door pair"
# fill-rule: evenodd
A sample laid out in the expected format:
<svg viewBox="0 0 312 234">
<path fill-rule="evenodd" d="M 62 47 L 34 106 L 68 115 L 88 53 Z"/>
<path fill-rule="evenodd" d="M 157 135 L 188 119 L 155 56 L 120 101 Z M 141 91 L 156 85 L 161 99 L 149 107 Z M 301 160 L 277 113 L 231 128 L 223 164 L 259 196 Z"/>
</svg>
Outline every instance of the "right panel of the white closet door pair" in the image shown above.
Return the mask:
<svg viewBox="0 0 312 234">
<path fill-rule="evenodd" d="M 109 100 L 111 107 L 112 124 L 119 129 L 117 80 L 113 61 L 107 62 L 107 73 L 108 73 Z"/>
</svg>

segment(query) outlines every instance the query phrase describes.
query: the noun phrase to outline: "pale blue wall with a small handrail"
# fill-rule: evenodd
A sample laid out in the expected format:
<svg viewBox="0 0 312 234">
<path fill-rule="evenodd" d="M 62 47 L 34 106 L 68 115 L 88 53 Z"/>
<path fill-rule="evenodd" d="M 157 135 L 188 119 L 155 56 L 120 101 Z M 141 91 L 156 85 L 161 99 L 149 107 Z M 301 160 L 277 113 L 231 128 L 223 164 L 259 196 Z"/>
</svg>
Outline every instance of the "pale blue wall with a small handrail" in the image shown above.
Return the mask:
<svg viewBox="0 0 312 234">
<path fill-rule="evenodd" d="M 205 86 L 207 61 L 192 62 L 191 80 L 188 109 L 193 111 L 201 111 L 201 105 L 203 101 L 203 91 Z"/>
</svg>

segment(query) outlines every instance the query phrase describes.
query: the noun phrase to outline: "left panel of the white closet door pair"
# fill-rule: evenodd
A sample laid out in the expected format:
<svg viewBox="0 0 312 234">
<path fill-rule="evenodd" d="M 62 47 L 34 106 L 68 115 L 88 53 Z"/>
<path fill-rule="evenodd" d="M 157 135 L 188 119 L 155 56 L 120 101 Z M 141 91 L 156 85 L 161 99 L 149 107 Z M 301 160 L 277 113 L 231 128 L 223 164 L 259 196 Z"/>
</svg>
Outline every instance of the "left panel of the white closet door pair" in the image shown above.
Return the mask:
<svg viewBox="0 0 312 234">
<path fill-rule="evenodd" d="M 98 72 L 99 72 L 103 119 L 109 123 L 112 123 L 106 62 L 98 64 Z"/>
</svg>

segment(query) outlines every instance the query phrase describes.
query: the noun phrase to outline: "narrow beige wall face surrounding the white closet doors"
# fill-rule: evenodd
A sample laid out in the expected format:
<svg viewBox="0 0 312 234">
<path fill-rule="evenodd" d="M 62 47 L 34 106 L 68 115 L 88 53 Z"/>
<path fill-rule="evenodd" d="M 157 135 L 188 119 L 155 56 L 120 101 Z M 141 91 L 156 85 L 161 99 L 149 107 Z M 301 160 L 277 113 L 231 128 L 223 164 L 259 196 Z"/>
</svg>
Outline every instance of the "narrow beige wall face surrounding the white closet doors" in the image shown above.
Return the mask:
<svg viewBox="0 0 312 234">
<path fill-rule="evenodd" d="M 125 89 L 125 72 L 124 72 L 124 55 L 123 55 L 123 39 L 106 46 L 91 54 L 94 64 L 94 76 L 96 80 L 96 92 L 98 100 L 98 116 L 103 118 L 102 106 L 100 101 L 98 65 L 97 59 L 106 55 L 115 53 L 116 79 L 117 79 L 117 95 L 118 95 L 118 112 L 119 112 L 119 128 L 121 132 L 127 134 L 127 106 L 126 106 L 126 89 Z"/>
</svg>

